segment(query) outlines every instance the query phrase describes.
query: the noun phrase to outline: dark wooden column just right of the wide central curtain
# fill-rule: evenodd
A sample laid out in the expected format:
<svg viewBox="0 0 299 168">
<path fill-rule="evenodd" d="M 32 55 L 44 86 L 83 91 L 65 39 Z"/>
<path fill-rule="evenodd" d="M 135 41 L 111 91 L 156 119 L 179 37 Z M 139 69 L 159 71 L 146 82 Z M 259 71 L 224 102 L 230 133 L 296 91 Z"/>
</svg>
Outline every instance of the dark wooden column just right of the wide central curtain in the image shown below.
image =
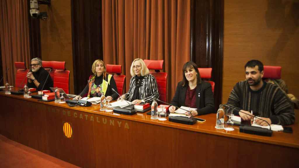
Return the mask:
<svg viewBox="0 0 299 168">
<path fill-rule="evenodd" d="M 223 4 L 223 0 L 191 1 L 190 57 L 199 68 L 213 68 L 215 109 L 222 97 Z"/>
</svg>

